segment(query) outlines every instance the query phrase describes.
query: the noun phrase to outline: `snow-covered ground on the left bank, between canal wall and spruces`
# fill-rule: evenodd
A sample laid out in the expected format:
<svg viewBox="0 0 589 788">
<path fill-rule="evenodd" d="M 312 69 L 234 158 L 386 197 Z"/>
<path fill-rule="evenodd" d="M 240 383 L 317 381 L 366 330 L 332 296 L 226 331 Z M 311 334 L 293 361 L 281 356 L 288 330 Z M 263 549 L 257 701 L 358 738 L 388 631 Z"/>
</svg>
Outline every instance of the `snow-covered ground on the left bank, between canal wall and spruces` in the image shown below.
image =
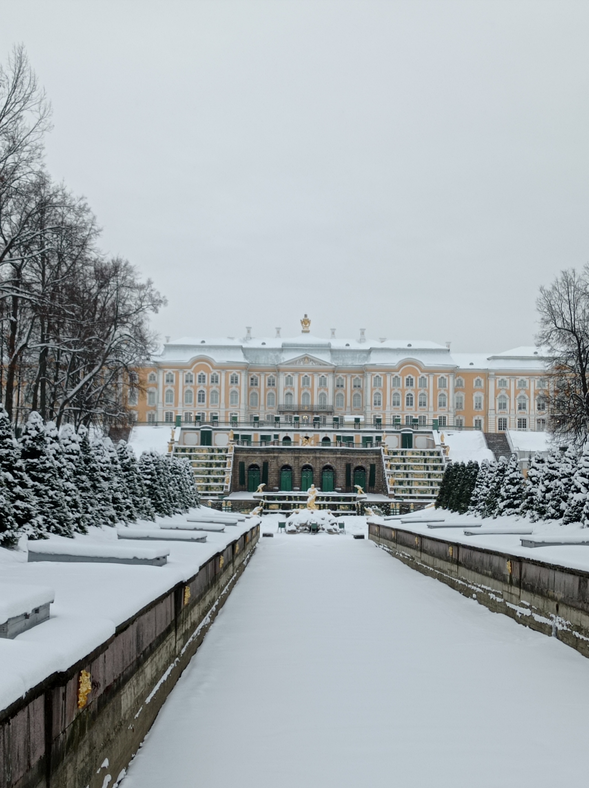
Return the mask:
<svg viewBox="0 0 589 788">
<path fill-rule="evenodd" d="M 202 511 L 202 510 L 201 510 Z M 197 510 L 192 509 L 192 514 Z M 190 515 L 188 515 L 190 516 Z M 185 522 L 187 515 L 157 518 L 157 523 Z M 211 556 L 254 526 L 246 519 L 226 526 L 223 533 L 206 533 L 205 544 L 161 541 L 169 550 L 163 567 L 140 567 L 114 563 L 27 563 L 27 554 L 0 548 L 0 584 L 48 586 L 55 591 L 50 619 L 13 640 L 0 638 L 0 709 L 16 701 L 28 689 L 54 671 L 70 665 L 96 649 L 114 634 L 115 628 L 176 583 L 191 578 Z M 157 523 L 139 521 L 130 528 L 157 528 Z M 74 541 L 51 537 L 51 543 L 66 548 L 84 545 L 100 552 L 105 543 L 133 548 L 130 541 L 117 541 L 117 530 L 91 528 L 76 534 Z M 26 544 L 26 539 L 24 540 Z M 49 541 L 41 542 L 48 545 Z M 140 543 L 139 543 L 140 544 Z M 143 543 L 154 550 L 153 542 Z"/>
</svg>

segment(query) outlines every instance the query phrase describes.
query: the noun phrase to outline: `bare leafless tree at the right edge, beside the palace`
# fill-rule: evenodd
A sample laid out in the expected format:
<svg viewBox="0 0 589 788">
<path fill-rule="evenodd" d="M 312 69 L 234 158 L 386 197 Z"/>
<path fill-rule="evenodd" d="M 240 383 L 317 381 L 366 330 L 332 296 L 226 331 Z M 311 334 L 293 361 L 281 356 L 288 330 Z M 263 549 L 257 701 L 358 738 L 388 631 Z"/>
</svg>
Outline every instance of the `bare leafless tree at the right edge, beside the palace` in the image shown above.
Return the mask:
<svg viewBox="0 0 589 788">
<path fill-rule="evenodd" d="M 589 266 L 540 288 L 537 337 L 550 351 L 550 430 L 580 445 L 589 436 Z"/>
</svg>

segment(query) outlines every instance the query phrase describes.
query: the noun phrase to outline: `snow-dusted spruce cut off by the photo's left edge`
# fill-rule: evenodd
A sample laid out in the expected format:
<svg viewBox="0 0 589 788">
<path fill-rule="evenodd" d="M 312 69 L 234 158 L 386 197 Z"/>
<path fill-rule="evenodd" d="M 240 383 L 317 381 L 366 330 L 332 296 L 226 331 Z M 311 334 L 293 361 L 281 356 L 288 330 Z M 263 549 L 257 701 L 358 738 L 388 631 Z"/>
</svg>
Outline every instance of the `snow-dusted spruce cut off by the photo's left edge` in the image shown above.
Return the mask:
<svg viewBox="0 0 589 788">
<path fill-rule="evenodd" d="M 8 547 L 16 544 L 18 536 L 43 535 L 43 527 L 37 519 L 37 504 L 31 480 L 24 470 L 20 458 L 20 445 L 14 437 L 8 414 L 0 405 L 0 477 L 6 485 L 3 494 L 8 497 L 9 507 L 0 496 L 0 544 Z M 10 509 L 14 522 L 10 519 Z M 12 535 L 11 535 L 12 534 Z"/>
</svg>

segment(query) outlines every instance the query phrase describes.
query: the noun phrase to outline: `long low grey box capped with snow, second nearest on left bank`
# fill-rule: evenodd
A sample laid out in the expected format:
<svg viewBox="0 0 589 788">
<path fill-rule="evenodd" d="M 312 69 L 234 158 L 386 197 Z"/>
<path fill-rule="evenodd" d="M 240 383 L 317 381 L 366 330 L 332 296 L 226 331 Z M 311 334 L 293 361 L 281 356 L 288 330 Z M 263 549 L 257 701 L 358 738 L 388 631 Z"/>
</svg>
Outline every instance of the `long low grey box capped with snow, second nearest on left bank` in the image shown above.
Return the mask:
<svg viewBox="0 0 589 788">
<path fill-rule="evenodd" d="M 131 547 L 116 542 L 88 545 L 86 542 L 39 540 L 28 542 L 29 561 L 61 561 L 83 563 L 130 563 L 139 566 L 163 567 L 169 548 Z"/>
</svg>

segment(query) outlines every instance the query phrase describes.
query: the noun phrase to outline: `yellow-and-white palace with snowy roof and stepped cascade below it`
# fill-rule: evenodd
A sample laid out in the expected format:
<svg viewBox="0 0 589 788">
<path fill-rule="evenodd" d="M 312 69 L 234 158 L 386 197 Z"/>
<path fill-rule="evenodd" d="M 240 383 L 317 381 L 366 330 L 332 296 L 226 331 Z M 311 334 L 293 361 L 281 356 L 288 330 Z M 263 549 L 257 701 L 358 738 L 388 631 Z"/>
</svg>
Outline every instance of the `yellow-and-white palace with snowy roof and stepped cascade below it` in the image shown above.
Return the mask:
<svg viewBox="0 0 589 788">
<path fill-rule="evenodd" d="M 243 339 L 167 341 L 139 370 L 135 424 L 175 427 L 171 450 L 191 459 L 202 494 L 235 507 L 249 493 L 251 505 L 261 483 L 263 503 L 288 511 L 314 482 L 335 511 L 357 503 L 358 487 L 424 505 L 443 475 L 444 430 L 480 430 L 497 455 L 507 431 L 546 429 L 537 348 L 453 353 L 364 329 L 324 339 L 301 323 L 289 338 L 247 328 Z"/>
</svg>

